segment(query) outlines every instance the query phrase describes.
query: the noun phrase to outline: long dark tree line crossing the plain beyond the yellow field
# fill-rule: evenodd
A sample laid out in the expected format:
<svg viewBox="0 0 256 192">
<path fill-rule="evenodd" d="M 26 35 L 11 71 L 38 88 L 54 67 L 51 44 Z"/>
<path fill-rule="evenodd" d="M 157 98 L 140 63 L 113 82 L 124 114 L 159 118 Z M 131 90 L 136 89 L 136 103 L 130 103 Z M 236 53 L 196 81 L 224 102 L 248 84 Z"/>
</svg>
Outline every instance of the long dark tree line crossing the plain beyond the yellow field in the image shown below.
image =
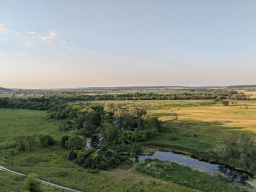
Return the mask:
<svg viewBox="0 0 256 192">
<path fill-rule="evenodd" d="M 193 92 L 193 91 L 192 91 Z M 234 90 L 213 90 L 202 93 L 123 93 L 123 94 L 50 94 L 29 98 L 0 98 L 1 108 L 27 108 L 32 110 L 51 110 L 71 101 L 121 101 L 121 100 L 178 100 L 178 99 L 248 99 L 244 93 Z"/>
</svg>

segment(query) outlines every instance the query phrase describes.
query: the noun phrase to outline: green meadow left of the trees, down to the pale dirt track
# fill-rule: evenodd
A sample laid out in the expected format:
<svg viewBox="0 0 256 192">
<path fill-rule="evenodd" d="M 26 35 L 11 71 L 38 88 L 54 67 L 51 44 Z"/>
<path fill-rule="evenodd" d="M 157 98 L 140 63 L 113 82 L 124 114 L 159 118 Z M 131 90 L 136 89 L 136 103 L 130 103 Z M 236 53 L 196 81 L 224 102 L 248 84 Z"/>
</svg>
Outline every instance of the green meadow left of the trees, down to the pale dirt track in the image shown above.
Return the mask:
<svg viewBox="0 0 256 192">
<path fill-rule="evenodd" d="M 144 191 L 197 191 L 175 183 L 162 182 L 152 177 L 146 179 L 132 170 L 129 171 L 127 177 L 124 177 L 126 174 L 122 174 L 123 177 L 117 174 L 123 169 L 93 174 L 90 173 L 90 170 L 81 169 L 76 164 L 65 160 L 59 146 L 46 149 L 38 148 L 34 151 L 10 155 L 9 146 L 12 139 L 18 135 L 48 133 L 55 139 L 63 135 L 58 129 L 60 122 L 49 121 L 45 116 L 46 112 L 35 110 L 4 110 L 0 108 L 0 165 L 25 174 L 35 172 L 41 179 L 82 191 L 140 191 L 141 189 Z M 126 172 L 126 170 L 124 171 Z M 6 174 L 7 172 L 1 172 L 0 180 L 9 177 Z M 9 182 L 15 181 L 10 177 Z"/>
</svg>

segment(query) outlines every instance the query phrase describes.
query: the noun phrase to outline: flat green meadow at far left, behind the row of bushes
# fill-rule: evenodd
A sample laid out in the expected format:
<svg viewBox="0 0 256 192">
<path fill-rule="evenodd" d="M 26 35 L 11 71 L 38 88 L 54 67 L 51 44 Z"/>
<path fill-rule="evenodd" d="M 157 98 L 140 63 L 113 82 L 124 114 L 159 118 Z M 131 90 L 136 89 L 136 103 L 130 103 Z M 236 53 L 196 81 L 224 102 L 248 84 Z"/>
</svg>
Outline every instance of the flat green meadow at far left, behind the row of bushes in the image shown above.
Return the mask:
<svg viewBox="0 0 256 192">
<path fill-rule="evenodd" d="M 19 135 L 49 134 L 61 137 L 60 121 L 46 119 L 46 112 L 37 110 L 10 110 L 0 108 L 0 149 L 11 144 Z"/>
</svg>

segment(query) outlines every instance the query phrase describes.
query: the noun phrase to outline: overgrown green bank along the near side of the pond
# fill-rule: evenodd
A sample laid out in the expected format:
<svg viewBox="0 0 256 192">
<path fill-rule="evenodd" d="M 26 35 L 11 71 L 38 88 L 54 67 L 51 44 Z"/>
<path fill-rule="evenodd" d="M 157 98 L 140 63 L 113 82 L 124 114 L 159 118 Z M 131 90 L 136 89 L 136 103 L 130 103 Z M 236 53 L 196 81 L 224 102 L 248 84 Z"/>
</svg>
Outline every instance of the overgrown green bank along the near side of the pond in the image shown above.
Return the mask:
<svg viewBox="0 0 256 192">
<path fill-rule="evenodd" d="M 137 171 L 202 191 L 249 191 L 241 185 L 232 185 L 221 174 L 210 175 L 207 172 L 194 170 L 188 166 L 179 165 L 176 162 L 146 159 L 139 163 Z"/>
</svg>

